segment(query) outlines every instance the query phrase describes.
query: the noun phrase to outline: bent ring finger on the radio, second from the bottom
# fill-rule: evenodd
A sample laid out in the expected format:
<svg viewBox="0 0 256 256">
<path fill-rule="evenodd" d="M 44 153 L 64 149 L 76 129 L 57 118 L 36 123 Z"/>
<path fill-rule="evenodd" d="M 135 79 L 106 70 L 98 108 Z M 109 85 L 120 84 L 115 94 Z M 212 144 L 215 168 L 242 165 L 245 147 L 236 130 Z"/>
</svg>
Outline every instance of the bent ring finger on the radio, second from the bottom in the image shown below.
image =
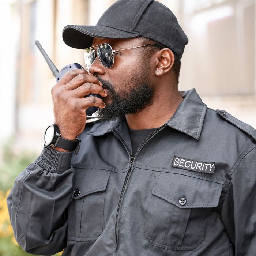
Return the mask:
<svg viewBox="0 0 256 256">
<path fill-rule="evenodd" d="M 106 97 L 108 95 L 101 86 L 90 82 L 82 84 L 81 86 L 73 90 L 72 93 L 76 98 L 83 98 L 90 93 L 99 94 L 101 95 L 101 97 Z"/>
</svg>

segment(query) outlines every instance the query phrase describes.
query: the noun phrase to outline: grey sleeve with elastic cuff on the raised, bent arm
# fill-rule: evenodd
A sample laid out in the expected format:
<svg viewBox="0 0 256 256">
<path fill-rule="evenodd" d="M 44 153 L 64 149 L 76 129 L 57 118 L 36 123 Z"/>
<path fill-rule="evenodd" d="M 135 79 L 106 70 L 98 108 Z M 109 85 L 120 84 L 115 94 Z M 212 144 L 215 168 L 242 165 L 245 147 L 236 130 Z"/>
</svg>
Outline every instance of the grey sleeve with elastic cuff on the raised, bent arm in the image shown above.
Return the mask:
<svg viewBox="0 0 256 256">
<path fill-rule="evenodd" d="M 44 146 L 7 197 L 14 236 L 28 253 L 53 255 L 67 244 L 65 210 L 73 196 L 72 152 Z"/>
</svg>

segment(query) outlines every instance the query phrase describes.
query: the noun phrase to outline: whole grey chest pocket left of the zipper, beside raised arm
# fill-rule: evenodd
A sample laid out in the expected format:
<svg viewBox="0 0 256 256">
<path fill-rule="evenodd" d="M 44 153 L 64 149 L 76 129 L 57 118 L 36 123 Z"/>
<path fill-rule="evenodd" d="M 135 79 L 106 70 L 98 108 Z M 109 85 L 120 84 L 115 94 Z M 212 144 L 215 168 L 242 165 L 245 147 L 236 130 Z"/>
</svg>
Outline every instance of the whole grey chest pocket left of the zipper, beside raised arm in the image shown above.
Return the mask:
<svg viewBox="0 0 256 256">
<path fill-rule="evenodd" d="M 74 196 L 68 207 L 68 240 L 94 242 L 103 230 L 110 171 L 74 169 Z"/>
</svg>

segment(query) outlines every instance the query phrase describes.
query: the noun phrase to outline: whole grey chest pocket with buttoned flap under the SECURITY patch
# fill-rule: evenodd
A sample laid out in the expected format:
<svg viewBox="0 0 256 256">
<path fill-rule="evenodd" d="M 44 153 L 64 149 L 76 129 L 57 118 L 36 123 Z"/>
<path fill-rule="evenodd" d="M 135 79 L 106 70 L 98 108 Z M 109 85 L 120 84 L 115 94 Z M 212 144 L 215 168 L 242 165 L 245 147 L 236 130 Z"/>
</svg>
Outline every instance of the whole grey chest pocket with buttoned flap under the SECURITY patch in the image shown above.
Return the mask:
<svg viewBox="0 0 256 256">
<path fill-rule="evenodd" d="M 181 174 L 156 178 L 144 234 L 151 245 L 193 250 L 204 241 L 204 219 L 218 206 L 222 185 Z"/>
</svg>

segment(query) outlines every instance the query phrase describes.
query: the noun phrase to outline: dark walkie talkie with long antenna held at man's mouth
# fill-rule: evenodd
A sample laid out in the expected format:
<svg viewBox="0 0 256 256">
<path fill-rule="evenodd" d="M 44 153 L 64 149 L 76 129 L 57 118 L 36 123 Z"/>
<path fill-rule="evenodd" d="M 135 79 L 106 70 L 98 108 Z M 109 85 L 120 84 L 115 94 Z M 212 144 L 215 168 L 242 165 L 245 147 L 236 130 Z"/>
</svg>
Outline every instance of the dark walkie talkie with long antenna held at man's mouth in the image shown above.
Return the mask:
<svg viewBox="0 0 256 256">
<path fill-rule="evenodd" d="M 39 41 L 35 41 L 35 45 L 37 46 L 37 48 L 39 49 L 39 51 L 42 53 L 42 55 L 44 56 L 50 70 L 52 71 L 52 74 L 54 75 L 54 77 L 56 78 L 56 82 L 59 82 L 59 80 L 63 77 L 63 75 L 68 72 L 69 70 L 72 69 L 78 69 L 78 68 L 82 68 L 84 69 L 80 64 L 78 63 L 72 63 L 69 65 L 66 65 L 64 68 L 62 68 L 60 71 L 56 68 L 56 66 L 53 64 L 52 60 L 49 58 L 49 56 L 46 54 L 45 50 L 42 48 L 42 45 L 39 43 Z M 94 96 L 97 98 L 102 99 L 102 97 L 99 94 L 89 94 L 86 95 L 84 97 L 90 97 L 90 96 Z M 98 109 L 98 107 L 89 107 L 86 110 L 86 114 L 87 116 L 91 116 L 94 112 L 96 112 Z"/>
</svg>

